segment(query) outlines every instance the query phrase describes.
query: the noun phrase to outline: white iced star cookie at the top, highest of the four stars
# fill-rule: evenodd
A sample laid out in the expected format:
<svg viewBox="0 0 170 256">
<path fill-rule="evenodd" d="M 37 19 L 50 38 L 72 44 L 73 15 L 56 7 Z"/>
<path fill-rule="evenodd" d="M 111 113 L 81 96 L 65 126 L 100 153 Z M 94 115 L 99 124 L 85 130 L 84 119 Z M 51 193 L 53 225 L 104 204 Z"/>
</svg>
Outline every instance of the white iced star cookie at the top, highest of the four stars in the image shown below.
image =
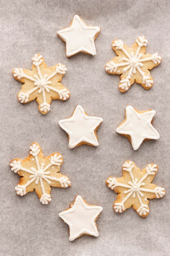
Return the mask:
<svg viewBox="0 0 170 256">
<path fill-rule="evenodd" d="M 87 26 L 84 21 L 75 15 L 69 27 L 57 32 L 57 35 L 66 43 L 66 56 L 71 57 L 78 52 L 95 55 L 95 39 L 100 27 Z"/>
</svg>

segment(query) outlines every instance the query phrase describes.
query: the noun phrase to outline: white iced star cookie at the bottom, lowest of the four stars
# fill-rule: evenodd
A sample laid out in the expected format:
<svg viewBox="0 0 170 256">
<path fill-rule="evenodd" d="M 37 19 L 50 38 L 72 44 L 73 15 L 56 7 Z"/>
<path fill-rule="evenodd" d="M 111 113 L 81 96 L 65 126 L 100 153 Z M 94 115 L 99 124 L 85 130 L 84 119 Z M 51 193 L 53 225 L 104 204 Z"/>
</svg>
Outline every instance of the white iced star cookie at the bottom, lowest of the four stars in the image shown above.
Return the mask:
<svg viewBox="0 0 170 256">
<path fill-rule="evenodd" d="M 60 218 L 69 226 L 69 240 L 73 241 L 82 235 L 99 236 L 96 220 L 102 210 L 101 206 L 89 205 L 77 195 L 70 208 L 59 213 Z"/>
</svg>

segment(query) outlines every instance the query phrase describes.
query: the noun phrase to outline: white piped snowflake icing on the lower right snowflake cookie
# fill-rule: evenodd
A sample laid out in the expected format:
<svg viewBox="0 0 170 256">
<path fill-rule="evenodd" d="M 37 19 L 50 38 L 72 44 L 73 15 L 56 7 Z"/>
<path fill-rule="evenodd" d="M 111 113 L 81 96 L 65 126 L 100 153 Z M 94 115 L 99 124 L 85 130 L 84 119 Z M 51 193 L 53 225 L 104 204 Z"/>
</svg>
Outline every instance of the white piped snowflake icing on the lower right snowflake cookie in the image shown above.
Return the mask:
<svg viewBox="0 0 170 256">
<path fill-rule="evenodd" d="M 127 171 L 130 174 L 131 177 L 131 182 L 128 182 L 128 185 L 126 184 L 122 184 L 122 183 L 118 183 L 116 178 L 112 178 L 110 177 L 107 180 L 108 183 L 108 187 L 110 189 L 115 189 L 116 187 L 124 187 L 124 188 L 128 188 L 128 190 L 124 191 L 124 194 L 127 196 L 124 198 L 124 200 L 122 200 L 122 202 L 119 203 L 115 203 L 114 209 L 116 212 L 121 213 L 122 211 L 125 210 L 124 207 L 124 203 L 128 200 L 128 198 L 130 198 L 132 196 L 132 198 L 135 198 L 137 196 L 139 203 L 140 203 L 140 207 L 139 209 L 137 209 L 137 212 L 139 213 L 139 215 L 146 215 L 149 212 L 149 207 L 147 204 L 143 204 L 141 198 L 144 197 L 144 194 L 142 192 L 148 192 L 148 193 L 154 193 L 156 195 L 157 198 L 162 198 L 165 195 L 164 189 L 161 187 L 156 187 L 155 189 L 147 189 L 147 188 L 143 188 L 145 186 L 144 180 L 148 177 L 148 175 L 155 175 L 155 173 L 157 172 L 157 164 L 148 164 L 148 166 L 146 167 L 146 174 L 141 177 L 141 179 L 138 181 L 137 178 L 134 178 L 133 173 L 132 173 L 132 169 L 134 168 L 134 165 L 132 164 L 132 162 L 125 162 L 123 164 L 123 170 Z"/>
</svg>

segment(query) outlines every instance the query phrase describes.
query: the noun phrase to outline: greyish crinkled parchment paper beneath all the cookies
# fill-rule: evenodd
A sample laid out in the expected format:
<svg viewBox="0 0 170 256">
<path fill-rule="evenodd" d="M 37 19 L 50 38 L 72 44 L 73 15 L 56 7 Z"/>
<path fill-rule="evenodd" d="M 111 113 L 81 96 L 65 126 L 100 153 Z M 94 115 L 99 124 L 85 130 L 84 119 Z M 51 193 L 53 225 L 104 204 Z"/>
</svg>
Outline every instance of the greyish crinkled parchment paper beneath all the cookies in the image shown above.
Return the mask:
<svg viewBox="0 0 170 256">
<path fill-rule="evenodd" d="M 170 255 L 170 2 L 168 0 L 1 0 L 0 2 L 0 255 L 1 256 L 91 256 Z M 88 25 L 99 26 L 95 40 L 97 54 L 66 58 L 65 44 L 56 36 L 74 15 Z M 147 53 L 158 52 L 162 63 L 151 71 L 153 88 L 146 91 L 134 84 L 128 92 L 118 90 L 119 76 L 109 75 L 104 66 L 115 56 L 111 48 L 117 38 L 131 46 L 139 35 L 148 39 Z M 71 97 L 53 100 L 51 111 L 42 115 L 36 101 L 21 104 L 17 93 L 21 83 L 12 76 L 14 67 L 31 69 L 35 53 L 50 67 L 64 63 L 62 79 Z M 99 146 L 68 148 L 66 132 L 58 121 L 72 115 L 77 104 L 88 115 L 104 119 L 97 131 Z M 137 151 L 127 138 L 115 132 L 124 120 L 126 105 L 138 110 L 157 111 L 153 125 L 157 141 L 145 141 Z M 24 159 L 36 141 L 44 155 L 60 152 L 61 173 L 72 187 L 52 188 L 52 201 L 42 205 L 35 192 L 15 194 L 19 176 L 11 171 L 13 158 Z M 154 183 L 167 194 L 150 200 L 150 214 L 141 218 L 131 208 L 122 214 L 113 211 L 117 196 L 105 185 L 110 175 L 120 177 L 126 160 L 144 168 L 159 165 Z M 81 195 L 89 204 L 104 208 L 97 220 L 99 237 L 82 236 L 70 242 L 68 225 L 58 216 Z"/>
</svg>

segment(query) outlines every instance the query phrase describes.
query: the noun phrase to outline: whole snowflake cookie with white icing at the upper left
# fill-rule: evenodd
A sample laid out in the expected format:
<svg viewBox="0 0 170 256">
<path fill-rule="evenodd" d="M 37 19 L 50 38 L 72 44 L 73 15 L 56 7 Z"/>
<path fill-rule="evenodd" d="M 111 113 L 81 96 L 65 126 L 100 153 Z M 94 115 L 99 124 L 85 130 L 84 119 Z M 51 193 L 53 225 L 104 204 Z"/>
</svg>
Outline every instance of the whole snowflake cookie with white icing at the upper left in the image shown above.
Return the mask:
<svg viewBox="0 0 170 256">
<path fill-rule="evenodd" d="M 32 70 L 21 67 L 13 70 L 14 78 L 23 83 L 18 100 L 27 103 L 36 99 L 38 109 L 44 115 L 49 112 L 52 99 L 65 101 L 70 97 L 68 89 L 60 83 L 67 69 L 60 63 L 47 67 L 40 54 L 35 54 L 32 60 Z"/>
</svg>

